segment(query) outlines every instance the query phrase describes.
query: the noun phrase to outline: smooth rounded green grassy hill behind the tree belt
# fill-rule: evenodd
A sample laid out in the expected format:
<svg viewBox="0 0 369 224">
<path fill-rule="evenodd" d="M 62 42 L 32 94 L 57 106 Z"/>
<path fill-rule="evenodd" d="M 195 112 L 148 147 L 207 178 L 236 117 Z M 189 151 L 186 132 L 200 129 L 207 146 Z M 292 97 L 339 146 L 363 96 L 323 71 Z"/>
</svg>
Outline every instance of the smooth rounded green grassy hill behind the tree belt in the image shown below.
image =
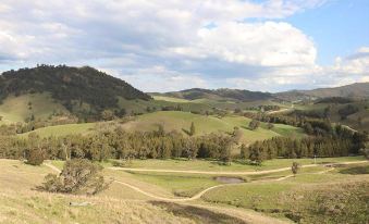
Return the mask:
<svg viewBox="0 0 369 224">
<path fill-rule="evenodd" d="M 163 125 L 165 130 L 177 130 L 185 133 L 188 130 L 190 123 L 196 126 L 196 135 L 209 133 L 225 132 L 232 133 L 235 126 L 243 132 L 243 141 L 253 142 L 275 136 L 303 136 L 303 130 L 288 125 L 275 125 L 274 128 L 268 129 L 265 124 L 256 130 L 248 129 L 249 119 L 244 116 L 225 116 L 219 119 L 216 116 L 206 116 L 180 111 L 160 111 L 137 116 L 136 121 L 124 125 L 128 130 L 153 130 L 158 125 Z"/>
</svg>

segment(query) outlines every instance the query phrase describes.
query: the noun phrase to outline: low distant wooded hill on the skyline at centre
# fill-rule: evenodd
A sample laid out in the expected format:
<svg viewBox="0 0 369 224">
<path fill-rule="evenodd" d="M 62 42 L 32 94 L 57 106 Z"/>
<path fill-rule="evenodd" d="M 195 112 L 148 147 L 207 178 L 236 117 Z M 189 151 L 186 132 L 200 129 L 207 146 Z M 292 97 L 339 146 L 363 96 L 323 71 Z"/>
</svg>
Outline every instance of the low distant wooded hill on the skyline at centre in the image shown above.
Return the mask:
<svg viewBox="0 0 369 224">
<path fill-rule="evenodd" d="M 268 92 L 249 91 L 241 89 L 226 89 L 226 88 L 216 90 L 193 88 L 182 91 L 161 94 L 161 96 L 174 97 L 186 100 L 211 99 L 211 100 L 231 100 L 231 101 L 255 101 L 272 98 L 271 94 Z"/>
</svg>

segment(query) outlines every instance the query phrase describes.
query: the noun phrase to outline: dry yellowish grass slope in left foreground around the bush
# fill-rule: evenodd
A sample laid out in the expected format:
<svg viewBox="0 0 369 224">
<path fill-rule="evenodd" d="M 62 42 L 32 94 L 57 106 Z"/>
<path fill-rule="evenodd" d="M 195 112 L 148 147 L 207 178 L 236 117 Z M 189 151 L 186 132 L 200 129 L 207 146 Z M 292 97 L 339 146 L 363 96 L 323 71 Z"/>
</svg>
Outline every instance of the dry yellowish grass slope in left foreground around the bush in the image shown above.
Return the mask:
<svg viewBox="0 0 369 224">
<path fill-rule="evenodd" d="M 51 170 L 0 160 L 0 223 L 244 223 L 212 209 L 153 203 L 130 188 L 112 184 L 95 197 L 34 190 Z M 70 202 L 88 202 L 71 207 Z"/>
</svg>

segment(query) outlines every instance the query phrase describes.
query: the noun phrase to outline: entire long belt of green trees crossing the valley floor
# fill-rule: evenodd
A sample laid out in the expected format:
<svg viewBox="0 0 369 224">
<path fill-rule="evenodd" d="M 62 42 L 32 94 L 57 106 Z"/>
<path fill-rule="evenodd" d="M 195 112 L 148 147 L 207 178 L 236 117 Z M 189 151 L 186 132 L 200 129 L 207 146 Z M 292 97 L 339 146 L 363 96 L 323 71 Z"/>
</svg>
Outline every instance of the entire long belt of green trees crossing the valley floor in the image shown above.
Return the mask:
<svg viewBox="0 0 369 224">
<path fill-rule="evenodd" d="M 343 157 L 358 154 L 365 148 L 366 134 L 353 133 L 336 126 L 328 135 L 310 136 L 300 139 L 275 137 L 256 141 L 249 147 L 237 146 L 239 129 L 231 135 L 208 134 L 205 136 L 183 136 L 167 133 L 162 125 L 152 132 L 126 132 L 121 127 L 89 135 L 39 138 L 30 135 L 28 139 L 0 136 L 0 158 L 24 159 L 29 149 L 42 152 L 45 159 L 70 160 L 74 158 L 104 161 L 108 159 L 131 160 L 168 158 L 211 158 L 231 160 L 231 151 L 239 147 L 241 158 L 259 164 L 263 160 L 282 158 Z"/>
</svg>

